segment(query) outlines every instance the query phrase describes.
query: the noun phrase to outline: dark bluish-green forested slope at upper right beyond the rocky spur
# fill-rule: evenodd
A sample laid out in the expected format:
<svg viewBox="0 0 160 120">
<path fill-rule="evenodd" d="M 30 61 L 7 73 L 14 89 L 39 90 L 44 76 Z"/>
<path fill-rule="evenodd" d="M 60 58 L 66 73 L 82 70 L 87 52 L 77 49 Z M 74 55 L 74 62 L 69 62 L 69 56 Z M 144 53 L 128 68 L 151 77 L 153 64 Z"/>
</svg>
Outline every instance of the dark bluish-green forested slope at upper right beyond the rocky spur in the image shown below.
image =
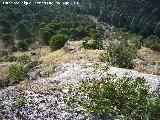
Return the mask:
<svg viewBox="0 0 160 120">
<path fill-rule="evenodd" d="M 94 15 L 100 21 L 144 38 L 150 35 L 160 37 L 160 1 L 158 0 L 78 0 L 80 12 Z M 152 44 L 160 44 L 152 39 Z M 156 46 L 156 49 L 158 50 Z M 152 46 L 148 46 L 151 49 Z"/>
</svg>

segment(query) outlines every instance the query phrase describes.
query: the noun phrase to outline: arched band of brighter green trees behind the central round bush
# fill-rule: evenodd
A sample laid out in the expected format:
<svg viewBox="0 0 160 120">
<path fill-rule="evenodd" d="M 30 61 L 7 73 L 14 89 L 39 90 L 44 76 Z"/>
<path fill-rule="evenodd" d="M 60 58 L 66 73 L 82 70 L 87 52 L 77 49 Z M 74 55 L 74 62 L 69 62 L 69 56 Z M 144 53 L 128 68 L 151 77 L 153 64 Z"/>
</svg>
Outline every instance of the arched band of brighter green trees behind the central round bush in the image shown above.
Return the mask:
<svg viewBox="0 0 160 120">
<path fill-rule="evenodd" d="M 86 36 L 101 39 L 103 32 L 103 29 L 96 27 L 96 24 L 85 16 L 53 20 L 40 29 L 42 43 L 45 45 L 48 45 L 51 37 L 56 34 L 65 34 L 73 40 L 82 39 Z"/>
</svg>

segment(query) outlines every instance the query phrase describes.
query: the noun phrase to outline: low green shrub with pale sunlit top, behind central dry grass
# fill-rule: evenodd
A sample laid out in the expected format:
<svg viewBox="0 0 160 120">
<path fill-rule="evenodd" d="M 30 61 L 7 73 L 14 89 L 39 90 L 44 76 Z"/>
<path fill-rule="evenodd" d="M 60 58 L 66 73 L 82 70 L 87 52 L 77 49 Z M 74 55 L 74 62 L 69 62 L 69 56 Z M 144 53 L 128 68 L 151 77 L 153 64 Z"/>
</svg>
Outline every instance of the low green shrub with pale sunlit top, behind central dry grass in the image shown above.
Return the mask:
<svg viewBox="0 0 160 120">
<path fill-rule="evenodd" d="M 89 37 L 85 37 L 83 39 L 82 45 L 85 49 L 95 50 L 95 49 L 102 49 L 103 48 L 101 40 L 94 40 L 94 39 L 91 39 Z"/>
</svg>

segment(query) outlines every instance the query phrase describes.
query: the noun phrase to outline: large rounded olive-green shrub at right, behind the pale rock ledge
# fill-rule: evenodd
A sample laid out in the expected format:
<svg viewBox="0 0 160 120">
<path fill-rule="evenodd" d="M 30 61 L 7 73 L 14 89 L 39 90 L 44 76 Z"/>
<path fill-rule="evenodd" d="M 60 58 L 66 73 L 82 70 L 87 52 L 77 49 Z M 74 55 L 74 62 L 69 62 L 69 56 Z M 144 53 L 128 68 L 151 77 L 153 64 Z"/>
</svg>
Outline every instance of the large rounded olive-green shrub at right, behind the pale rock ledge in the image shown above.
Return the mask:
<svg viewBox="0 0 160 120">
<path fill-rule="evenodd" d="M 134 46 L 128 45 L 127 42 L 120 42 L 108 50 L 108 62 L 120 68 L 133 68 L 133 58 L 137 54 Z"/>
</svg>

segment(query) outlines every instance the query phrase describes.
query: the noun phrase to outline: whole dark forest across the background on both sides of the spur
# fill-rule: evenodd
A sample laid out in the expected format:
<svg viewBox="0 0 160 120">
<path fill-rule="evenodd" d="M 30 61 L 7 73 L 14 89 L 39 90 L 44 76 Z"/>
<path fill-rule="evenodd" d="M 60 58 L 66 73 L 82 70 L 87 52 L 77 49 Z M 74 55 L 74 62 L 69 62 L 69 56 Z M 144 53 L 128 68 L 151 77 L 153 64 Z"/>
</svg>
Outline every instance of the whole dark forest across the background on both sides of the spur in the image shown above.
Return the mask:
<svg viewBox="0 0 160 120">
<path fill-rule="evenodd" d="M 100 21 L 126 28 L 144 38 L 160 37 L 160 2 L 157 0 L 73 0 L 68 5 L 63 4 L 65 0 L 57 0 L 59 5 L 55 1 L 52 5 L 28 1 L 31 4 L 0 4 L 0 36 L 12 33 L 12 43 L 19 39 L 35 41 L 41 36 L 42 43 L 49 45 L 50 38 L 59 33 L 73 39 L 101 38 L 102 30 L 84 19 L 84 14 L 97 16 Z M 156 40 L 153 42 L 157 44 Z"/>
</svg>

